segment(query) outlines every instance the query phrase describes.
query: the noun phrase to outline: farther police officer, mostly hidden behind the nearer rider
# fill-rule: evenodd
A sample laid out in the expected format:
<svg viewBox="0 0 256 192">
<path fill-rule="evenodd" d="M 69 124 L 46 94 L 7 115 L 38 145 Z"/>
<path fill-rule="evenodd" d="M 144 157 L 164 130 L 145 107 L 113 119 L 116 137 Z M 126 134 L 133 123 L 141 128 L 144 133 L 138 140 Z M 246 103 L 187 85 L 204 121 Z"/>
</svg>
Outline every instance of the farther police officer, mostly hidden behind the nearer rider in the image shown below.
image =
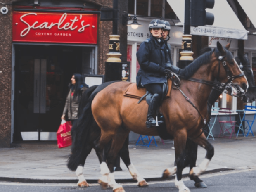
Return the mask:
<svg viewBox="0 0 256 192">
<path fill-rule="evenodd" d="M 169 33 L 171 30 L 171 25 L 168 21 L 162 21 L 164 24 L 164 29 L 162 33 L 162 38 L 164 40 L 164 53 L 165 53 L 165 65 L 167 69 L 170 69 L 173 73 L 179 74 L 182 69 L 173 66 L 173 62 L 171 59 L 171 45 L 168 43 L 168 40 L 170 39 Z"/>
</svg>

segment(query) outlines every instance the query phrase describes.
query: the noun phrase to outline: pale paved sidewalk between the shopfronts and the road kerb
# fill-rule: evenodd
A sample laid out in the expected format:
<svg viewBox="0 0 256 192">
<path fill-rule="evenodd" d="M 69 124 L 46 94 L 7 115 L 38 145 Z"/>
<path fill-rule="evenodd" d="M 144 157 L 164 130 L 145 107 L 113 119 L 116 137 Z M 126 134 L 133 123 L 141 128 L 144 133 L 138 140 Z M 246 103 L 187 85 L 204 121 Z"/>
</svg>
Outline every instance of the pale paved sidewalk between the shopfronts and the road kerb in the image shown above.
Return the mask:
<svg viewBox="0 0 256 192">
<path fill-rule="evenodd" d="M 256 138 L 242 137 L 237 139 L 216 138 L 209 140 L 215 147 L 215 155 L 211 160 L 208 172 L 221 169 L 246 169 L 256 167 Z M 130 143 L 130 158 L 143 178 L 159 179 L 164 169 L 173 166 L 175 153 L 173 144 L 168 140 L 157 140 L 157 147 L 136 146 Z M 70 147 L 58 149 L 56 142 L 36 142 L 16 144 L 11 149 L 0 149 L 0 180 L 38 183 L 76 183 L 75 172 L 66 167 Z M 199 147 L 197 165 L 204 159 L 206 151 Z M 131 181 L 131 176 L 121 161 L 123 171 L 115 172 L 119 182 Z M 185 168 L 183 174 L 189 172 Z M 100 177 L 100 164 L 92 150 L 84 167 L 85 179 L 88 183 L 96 183 Z"/>
</svg>

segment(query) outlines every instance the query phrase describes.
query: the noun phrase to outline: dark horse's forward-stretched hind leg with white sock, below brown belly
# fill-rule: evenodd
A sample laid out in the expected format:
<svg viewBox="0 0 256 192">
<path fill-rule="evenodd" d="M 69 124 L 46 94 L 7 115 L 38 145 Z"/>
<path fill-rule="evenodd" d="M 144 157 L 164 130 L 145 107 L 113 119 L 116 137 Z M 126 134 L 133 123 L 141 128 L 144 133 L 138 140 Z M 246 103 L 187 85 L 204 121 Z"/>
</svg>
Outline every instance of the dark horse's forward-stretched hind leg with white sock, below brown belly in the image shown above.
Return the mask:
<svg viewBox="0 0 256 192">
<path fill-rule="evenodd" d="M 145 181 L 145 179 L 140 176 L 140 173 L 137 171 L 137 169 L 135 168 L 133 163 L 131 163 L 131 161 L 130 161 L 128 144 L 129 144 L 129 140 L 127 137 L 123 144 L 123 147 L 120 149 L 118 154 L 121 157 L 121 159 L 123 160 L 126 167 L 129 169 L 130 174 L 132 175 L 133 179 L 137 180 L 137 182 L 138 182 L 137 185 L 139 187 L 148 187 L 148 184 Z"/>
</svg>

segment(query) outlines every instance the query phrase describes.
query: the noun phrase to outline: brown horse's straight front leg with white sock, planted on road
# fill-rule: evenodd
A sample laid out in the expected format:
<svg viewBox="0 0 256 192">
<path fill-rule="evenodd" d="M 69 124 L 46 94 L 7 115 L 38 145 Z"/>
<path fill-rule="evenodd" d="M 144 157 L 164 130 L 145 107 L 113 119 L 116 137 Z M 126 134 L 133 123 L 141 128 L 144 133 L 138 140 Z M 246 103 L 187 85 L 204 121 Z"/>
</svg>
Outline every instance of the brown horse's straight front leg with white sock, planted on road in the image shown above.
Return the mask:
<svg viewBox="0 0 256 192">
<path fill-rule="evenodd" d="M 175 162 L 177 166 L 175 186 L 179 189 L 179 192 L 190 192 L 190 190 L 185 186 L 182 180 L 182 171 L 187 165 L 187 152 L 185 151 L 187 140 L 186 130 L 178 130 L 174 137 L 174 147 L 175 147 Z"/>
</svg>

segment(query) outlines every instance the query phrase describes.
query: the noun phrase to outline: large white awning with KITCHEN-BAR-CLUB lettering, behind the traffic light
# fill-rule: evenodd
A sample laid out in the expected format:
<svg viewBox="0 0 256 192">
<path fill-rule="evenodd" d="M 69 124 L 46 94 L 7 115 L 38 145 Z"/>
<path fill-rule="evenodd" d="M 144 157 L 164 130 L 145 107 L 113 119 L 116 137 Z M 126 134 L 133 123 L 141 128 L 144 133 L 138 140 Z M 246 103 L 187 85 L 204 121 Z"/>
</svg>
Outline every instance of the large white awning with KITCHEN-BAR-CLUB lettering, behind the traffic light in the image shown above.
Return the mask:
<svg viewBox="0 0 256 192">
<path fill-rule="evenodd" d="M 180 19 L 180 22 L 184 23 L 185 0 L 167 0 L 167 2 Z M 247 40 L 248 31 L 241 24 L 226 0 L 215 0 L 213 9 L 206 9 L 206 11 L 214 14 L 213 25 L 191 27 L 191 35 Z"/>
</svg>

